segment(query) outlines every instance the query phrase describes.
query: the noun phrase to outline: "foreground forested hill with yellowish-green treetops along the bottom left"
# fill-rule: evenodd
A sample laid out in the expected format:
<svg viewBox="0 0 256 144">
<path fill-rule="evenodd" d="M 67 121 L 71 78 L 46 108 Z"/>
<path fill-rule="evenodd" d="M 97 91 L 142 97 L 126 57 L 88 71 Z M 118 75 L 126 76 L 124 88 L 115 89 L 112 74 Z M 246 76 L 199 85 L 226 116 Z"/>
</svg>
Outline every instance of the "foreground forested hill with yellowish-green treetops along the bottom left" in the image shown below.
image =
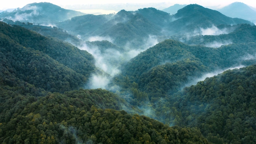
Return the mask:
<svg viewBox="0 0 256 144">
<path fill-rule="evenodd" d="M 210 144 L 195 128 L 170 128 L 146 116 L 97 108 L 104 104 L 105 108 L 119 109 L 119 102 L 113 104 L 112 99 L 109 103 L 109 98 L 118 100 L 118 96 L 101 89 L 48 93 L 37 98 L 22 96 L 22 102 L 0 113 L 0 142 Z"/>
</svg>

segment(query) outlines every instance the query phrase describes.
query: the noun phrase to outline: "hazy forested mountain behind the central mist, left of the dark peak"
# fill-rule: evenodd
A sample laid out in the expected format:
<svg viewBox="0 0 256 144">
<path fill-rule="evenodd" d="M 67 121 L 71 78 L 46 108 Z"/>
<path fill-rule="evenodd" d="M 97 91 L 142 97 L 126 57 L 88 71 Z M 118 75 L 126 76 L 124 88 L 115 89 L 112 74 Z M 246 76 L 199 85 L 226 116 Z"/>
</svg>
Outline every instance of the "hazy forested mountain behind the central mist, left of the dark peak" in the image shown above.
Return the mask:
<svg viewBox="0 0 256 144">
<path fill-rule="evenodd" d="M 157 35 L 161 29 L 155 25 L 161 24 L 159 21 L 154 21 L 153 16 L 146 14 L 143 10 L 138 12 L 128 12 L 121 10 L 116 15 L 83 15 L 72 18 L 71 20 L 60 22 L 57 26 L 69 31 L 71 34 L 81 35 L 83 40 L 89 40 L 90 37 L 100 36 L 105 40 L 112 39 L 113 43 L 118 46 L 141 46 L 141 41 L 144 41 L 149 35 Z M 157 11 L 151 8 L 147 12 Z M 159 10 L 158 10 L 159 11 Z M 161 21 L 164 17 L 160 17 L 162 13 L 156 12 Z M 148 18 L 144 17 L 146 15 Z M 167 14 L 167 13 L 164 13 Z"/>
</svg>

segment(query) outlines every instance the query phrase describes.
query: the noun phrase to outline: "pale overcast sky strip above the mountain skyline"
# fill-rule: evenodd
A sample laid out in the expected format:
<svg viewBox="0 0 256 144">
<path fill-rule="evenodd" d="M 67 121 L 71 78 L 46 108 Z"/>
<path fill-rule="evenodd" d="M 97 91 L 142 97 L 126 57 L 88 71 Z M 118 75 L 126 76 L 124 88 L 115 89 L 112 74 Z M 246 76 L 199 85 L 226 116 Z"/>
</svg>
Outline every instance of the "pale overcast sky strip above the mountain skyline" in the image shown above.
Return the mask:
<svg viewBox="0 0 256 144">
<path fill-rule="evenodd" d="M 23 7 L 29 3 L 35 2 L 49 2 L 58 6 L 64 7 L 65 5 L 74 4 L 106 4 L 106 3 L 161 3 L 166 2 L 170 6 L 173 4 L 191 4 L 196 3 L 201 6 L 217 6 L 228 5 L 238 0 L 1 0 L 0 10 L 6 10 L 16 7 Z M 256 7 L 256 1 L 254 0 L 240 0 L 249 6 Z M 168 6 L 167 6 L 168 7 Z"/>
</svg>

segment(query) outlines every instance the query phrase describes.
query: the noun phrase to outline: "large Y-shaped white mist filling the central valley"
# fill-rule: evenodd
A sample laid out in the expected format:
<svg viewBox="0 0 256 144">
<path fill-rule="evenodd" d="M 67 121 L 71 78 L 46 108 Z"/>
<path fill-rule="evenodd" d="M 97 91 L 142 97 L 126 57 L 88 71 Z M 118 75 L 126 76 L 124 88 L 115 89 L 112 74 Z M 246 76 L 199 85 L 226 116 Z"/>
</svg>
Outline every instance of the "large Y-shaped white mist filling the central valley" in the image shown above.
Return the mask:
<svg viewBox="0 0 256 144">
<path fill-rule="evenodd" d="M 112 39 L 107 37 L 110 41 Z M 106 37 L 91 37 L 90 40 L 106 40 Z M 141 46 L 141 49 L 131 48 L 126 46 L 124 49 L 114 49 L 106 48 L 100 50 L 98 46 L 88 46 L 84 43 L 82 46 L 78 47 L 79 49 L 86 50 L 91 53 L 95 58 L 95 66 L 100 70 L 104 71 L 104 74 L 92 74 L 89 78 L 88 84 L 85 88 L 96 89 L 102 88 L 107 89 L 107 85 L 110 83 L 111 79 L 117 74 L 121 73 L 120 67 L 128 62 L 130 59 L 137 56 L 140 52 L 152 47 L 158 43 L 158 40 L 155 36 L 149 36 L 144 40 L 144 44 Z"/>
</svg>

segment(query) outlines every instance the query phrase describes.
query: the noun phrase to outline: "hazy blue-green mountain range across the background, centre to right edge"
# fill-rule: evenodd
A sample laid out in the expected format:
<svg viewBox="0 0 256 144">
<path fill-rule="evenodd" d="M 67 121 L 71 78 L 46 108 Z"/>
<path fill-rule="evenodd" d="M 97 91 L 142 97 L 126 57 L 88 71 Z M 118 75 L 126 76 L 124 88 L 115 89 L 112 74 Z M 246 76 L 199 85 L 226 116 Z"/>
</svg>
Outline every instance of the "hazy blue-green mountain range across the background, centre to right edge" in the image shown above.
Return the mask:
<svg viewBox="0 0 256 144">
<path fill-rule="evenodd" d="M 121 10 L 116 15 L 83 15 L 57 24 L 57 27 L 83 40 L 93 36 L 112 39 L 118 46 L 139 47 L 149 36 L 159 40 L 165 36 L 200 33 L 202 28 L 225 24 L 235 25 L 252 22 L 230 18 L 216 10 L 190 4 L 180 9 L 175 15 L 149 7 L 136 11 Z"/>
</svg>

